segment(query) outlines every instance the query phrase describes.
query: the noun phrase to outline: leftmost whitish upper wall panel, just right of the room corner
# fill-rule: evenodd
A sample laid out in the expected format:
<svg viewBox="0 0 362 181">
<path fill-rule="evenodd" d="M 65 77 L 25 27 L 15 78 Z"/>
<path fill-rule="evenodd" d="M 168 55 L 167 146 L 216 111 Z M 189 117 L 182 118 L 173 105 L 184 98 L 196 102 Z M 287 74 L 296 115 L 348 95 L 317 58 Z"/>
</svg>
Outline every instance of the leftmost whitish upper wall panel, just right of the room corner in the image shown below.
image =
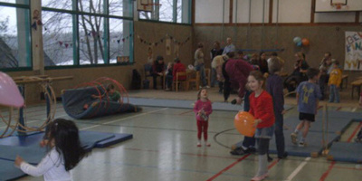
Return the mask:
<svg viewBox="0 0 362 181">
<path fill-rule="evenodd" d="M 229 0 L 195 0 L 195 23 L 207 24 L 229 23 Z"/>
</svg>

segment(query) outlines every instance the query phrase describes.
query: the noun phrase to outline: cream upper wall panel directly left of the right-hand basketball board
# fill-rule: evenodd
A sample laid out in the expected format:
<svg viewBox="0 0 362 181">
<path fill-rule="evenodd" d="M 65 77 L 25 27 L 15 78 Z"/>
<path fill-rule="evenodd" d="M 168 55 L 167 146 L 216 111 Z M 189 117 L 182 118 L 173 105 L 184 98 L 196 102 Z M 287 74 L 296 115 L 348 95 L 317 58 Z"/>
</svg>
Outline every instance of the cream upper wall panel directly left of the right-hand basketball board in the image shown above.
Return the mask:
<svg viewBox="0 0 362 181">
<path fill-rule="evenodd" d="M 274 0 L 272 23 L 277 22 L 278 3 L 278 23 L 310 23 L 311 0 Z"/>
</svg>

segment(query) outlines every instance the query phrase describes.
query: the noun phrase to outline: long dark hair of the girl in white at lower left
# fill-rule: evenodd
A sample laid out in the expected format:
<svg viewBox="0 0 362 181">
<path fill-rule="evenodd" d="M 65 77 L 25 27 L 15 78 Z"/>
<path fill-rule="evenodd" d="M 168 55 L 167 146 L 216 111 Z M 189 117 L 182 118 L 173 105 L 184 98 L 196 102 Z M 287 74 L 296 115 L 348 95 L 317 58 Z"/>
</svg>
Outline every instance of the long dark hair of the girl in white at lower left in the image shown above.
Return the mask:
<svg viewBox="0 0 362 181">
<path fill-rule="evenodd" d="M 55 150 L 63 157 L 66 171 L 76 167 L 83 157 L 87 155 L 81 147 L 79 131 L 75 123 L 67 119 L 55 119 L 47 129 L 48 148 L 54 143 Z"/>
</svg>

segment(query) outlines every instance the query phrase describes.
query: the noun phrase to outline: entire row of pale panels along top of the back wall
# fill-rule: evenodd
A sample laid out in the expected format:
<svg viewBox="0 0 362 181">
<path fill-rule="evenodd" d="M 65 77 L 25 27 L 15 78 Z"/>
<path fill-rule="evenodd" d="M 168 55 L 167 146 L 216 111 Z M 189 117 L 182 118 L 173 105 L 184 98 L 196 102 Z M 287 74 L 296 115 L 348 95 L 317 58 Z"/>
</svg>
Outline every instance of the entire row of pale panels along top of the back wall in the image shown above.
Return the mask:
<svg viewBox="0 0 362 181">
<path fill-rule="evenodd" d="M 326 4 L 326 2 L 330 3 L 330 0 L 317 0 L 317 2 Z M 263 3 L 265 4 L 263 5 Z M 312 0 L 273 0 L 272 23 L 277 22 L 277 14 L 280 24 L 310 23 L 311 3 Z M 195 0 L 195 23 L 228 24 L 229 4 L 230 0 Z M 265 24 L 269 23 L 269 4 L 270 0 L 233 0 L 233 23 L 261 24 L 262 21 Z M 362 9 L 362 0 L 348 0 L 348 5 L 352 4 L 361 5 Z M 262 18 L 263 8 L 264 18 Z M 350 9 L 352 8 L 350 7 Z M 251 13 L 250 17 L 249 13 Z M 356 12 L 316 13 L 314 23 L 354 23 L 355 16 Z M 359 15 L 359 21 L 362 23 L 362 12 Z"/>
</svg>

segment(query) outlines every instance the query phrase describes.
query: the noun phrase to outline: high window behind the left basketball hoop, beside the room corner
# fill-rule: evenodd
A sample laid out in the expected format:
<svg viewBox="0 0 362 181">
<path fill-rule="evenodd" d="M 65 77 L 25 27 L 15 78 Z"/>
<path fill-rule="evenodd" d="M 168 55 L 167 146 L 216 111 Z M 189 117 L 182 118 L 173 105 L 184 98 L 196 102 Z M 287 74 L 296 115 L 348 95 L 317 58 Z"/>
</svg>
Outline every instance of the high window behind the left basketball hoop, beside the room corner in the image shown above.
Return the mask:
<svg viewBox="0 0 362 181">
<path fill-rule="evenodd" d="M 152 0 L 152 11 L 138 11 L 138 18 L 177 24 L 191 24 L 191 0 Z"/>
</svg>

